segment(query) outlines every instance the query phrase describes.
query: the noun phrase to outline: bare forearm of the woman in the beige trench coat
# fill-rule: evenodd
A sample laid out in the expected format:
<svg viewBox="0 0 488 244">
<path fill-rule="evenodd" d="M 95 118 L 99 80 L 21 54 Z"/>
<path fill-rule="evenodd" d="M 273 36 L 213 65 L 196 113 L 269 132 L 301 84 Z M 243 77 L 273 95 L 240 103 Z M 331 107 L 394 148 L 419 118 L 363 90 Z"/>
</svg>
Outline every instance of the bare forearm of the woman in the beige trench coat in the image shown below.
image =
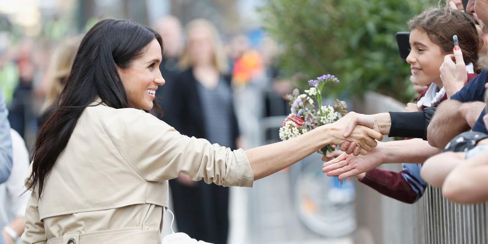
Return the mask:
<svg viewBox="0 0 488 244">
<path fill-rule="evenodd" d="M 246 150 L 254 180 L 278 172 L 330 144 L 331 128 L 329 125 L 321 126 L 287 141 Z"/>
</svg>

